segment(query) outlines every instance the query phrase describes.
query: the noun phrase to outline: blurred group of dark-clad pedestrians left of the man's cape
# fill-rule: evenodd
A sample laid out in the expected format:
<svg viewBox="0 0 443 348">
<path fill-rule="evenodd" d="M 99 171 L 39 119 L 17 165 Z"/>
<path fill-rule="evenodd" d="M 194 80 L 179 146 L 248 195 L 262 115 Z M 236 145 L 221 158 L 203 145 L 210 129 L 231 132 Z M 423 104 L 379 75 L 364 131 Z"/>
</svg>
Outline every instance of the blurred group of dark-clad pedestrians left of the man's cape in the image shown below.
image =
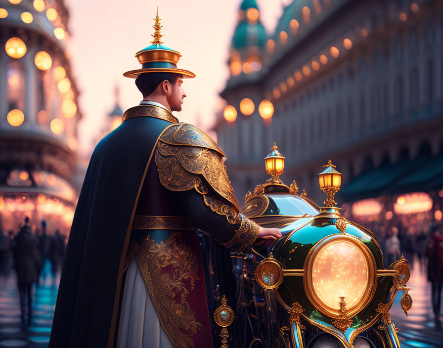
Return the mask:
<svg viewBox="0 0 443 348">
<path fill-rule="evenodd" d="M 26 217 L 17 233 L 10 230 L 5 234 L 0 229 L 0 282 L 4 283 L 15 270 L 22 321 L 26 316 L 31 321 L 33 285 L 38 286 L 48 278 L 55 285 L 65 253 L 65 236 L 58 230 L 48 235 L 44 220 L 41 226 L 33 231 Z"/>
</svg>

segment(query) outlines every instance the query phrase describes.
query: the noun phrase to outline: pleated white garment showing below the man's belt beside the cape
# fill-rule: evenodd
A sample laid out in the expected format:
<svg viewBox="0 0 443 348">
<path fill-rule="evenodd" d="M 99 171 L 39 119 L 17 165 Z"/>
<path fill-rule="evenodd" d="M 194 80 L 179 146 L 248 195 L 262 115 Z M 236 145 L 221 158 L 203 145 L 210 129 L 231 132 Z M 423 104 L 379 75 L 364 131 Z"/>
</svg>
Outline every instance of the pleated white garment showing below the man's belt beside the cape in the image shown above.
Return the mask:
<svg viewBox="0 0 443 348">
<path fill-rule="evenodd" d="M 135 256 L 126 274 L 117 347 L 173 348 L 160 324 Z"/>
</svg>

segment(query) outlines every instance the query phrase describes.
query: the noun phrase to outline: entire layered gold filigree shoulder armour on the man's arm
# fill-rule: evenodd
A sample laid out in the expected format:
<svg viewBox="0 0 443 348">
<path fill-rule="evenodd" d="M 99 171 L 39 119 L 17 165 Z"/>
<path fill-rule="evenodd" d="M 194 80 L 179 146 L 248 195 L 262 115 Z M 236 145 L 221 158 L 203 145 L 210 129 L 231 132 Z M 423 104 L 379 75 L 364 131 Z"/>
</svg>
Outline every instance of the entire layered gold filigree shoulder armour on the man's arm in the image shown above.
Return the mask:
<svg viewBox="0 0 443 348">
<path fill-rule="evenodd" d="M 225 215 L 232 224 L 237 223 L 240 207 L 226 174 L 221 150 L 215 149 L 218 145 L 206 134 L 213 144 L 205 139 L 199 140 L 196 133 L 190 140 L 190 144 L 178 143 L 176 139 L 180 139 L 180 142 L 184 141 L 182 135 L 177 136 L 177 131 L 181 126 L 174 125 L 167 128 L 159 138 L 155 163 L 158 167 L 160 182 L 172 191 L 195 188 L 197 192 L 205 195 L 206 205 L 214 212 Z M 207 196 L 208 184 L 227 202 Z"/>
</svg>

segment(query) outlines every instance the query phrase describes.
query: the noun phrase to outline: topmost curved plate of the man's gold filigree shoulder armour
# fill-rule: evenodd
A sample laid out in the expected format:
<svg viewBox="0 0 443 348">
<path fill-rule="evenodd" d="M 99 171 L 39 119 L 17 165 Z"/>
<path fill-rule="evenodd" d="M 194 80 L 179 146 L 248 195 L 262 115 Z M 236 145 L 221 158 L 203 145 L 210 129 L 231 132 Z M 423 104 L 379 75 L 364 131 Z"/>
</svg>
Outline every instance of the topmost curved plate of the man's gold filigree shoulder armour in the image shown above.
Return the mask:
<svg viewBox="0 0 443 348">
<path fill-rule="evenodd" d="M 170 145 L 213 149 L 226 157 L 219 145 L 208 134 L 188 123 L 180 123 L 169 127 L 160 135 L 160 140 Z"/>
</svg>

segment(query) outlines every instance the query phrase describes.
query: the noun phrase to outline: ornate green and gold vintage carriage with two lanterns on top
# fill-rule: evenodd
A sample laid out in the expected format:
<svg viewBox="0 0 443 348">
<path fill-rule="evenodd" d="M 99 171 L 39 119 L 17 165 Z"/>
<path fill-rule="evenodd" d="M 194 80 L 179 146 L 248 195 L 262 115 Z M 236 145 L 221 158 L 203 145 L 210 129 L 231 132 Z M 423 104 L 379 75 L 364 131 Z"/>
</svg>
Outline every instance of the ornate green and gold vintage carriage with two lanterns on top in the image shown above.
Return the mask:
<svg viewBox="0 0 443 348">
<path fill-rule="evenodd" d="M 295 181 L 288 187 L 280 180 L 284 157 L 275 145 L 265 161 L 271 178 L 247 193 L 242 214 L 261 226 L 279 228 L 283 236 L 256 245 L 251 254 L 231 255 L 230 279 L 212 270 L 216 298 L 221 282 L 235 287 L 229 301 L 219 298 L 214 313 L 222 327 L 220 345 L 400 347 L 389 309 L 397 291 L 404 292 L 406 314 L 412 305 L 408 261 L 401 258 L 385 267 L 377 237 L 340 214 L 334 195 L 341 174 L 331 161 L 319 174 L 328 197 L 322 208 L 304 190 L 299 194 Z"/>
</svg>

